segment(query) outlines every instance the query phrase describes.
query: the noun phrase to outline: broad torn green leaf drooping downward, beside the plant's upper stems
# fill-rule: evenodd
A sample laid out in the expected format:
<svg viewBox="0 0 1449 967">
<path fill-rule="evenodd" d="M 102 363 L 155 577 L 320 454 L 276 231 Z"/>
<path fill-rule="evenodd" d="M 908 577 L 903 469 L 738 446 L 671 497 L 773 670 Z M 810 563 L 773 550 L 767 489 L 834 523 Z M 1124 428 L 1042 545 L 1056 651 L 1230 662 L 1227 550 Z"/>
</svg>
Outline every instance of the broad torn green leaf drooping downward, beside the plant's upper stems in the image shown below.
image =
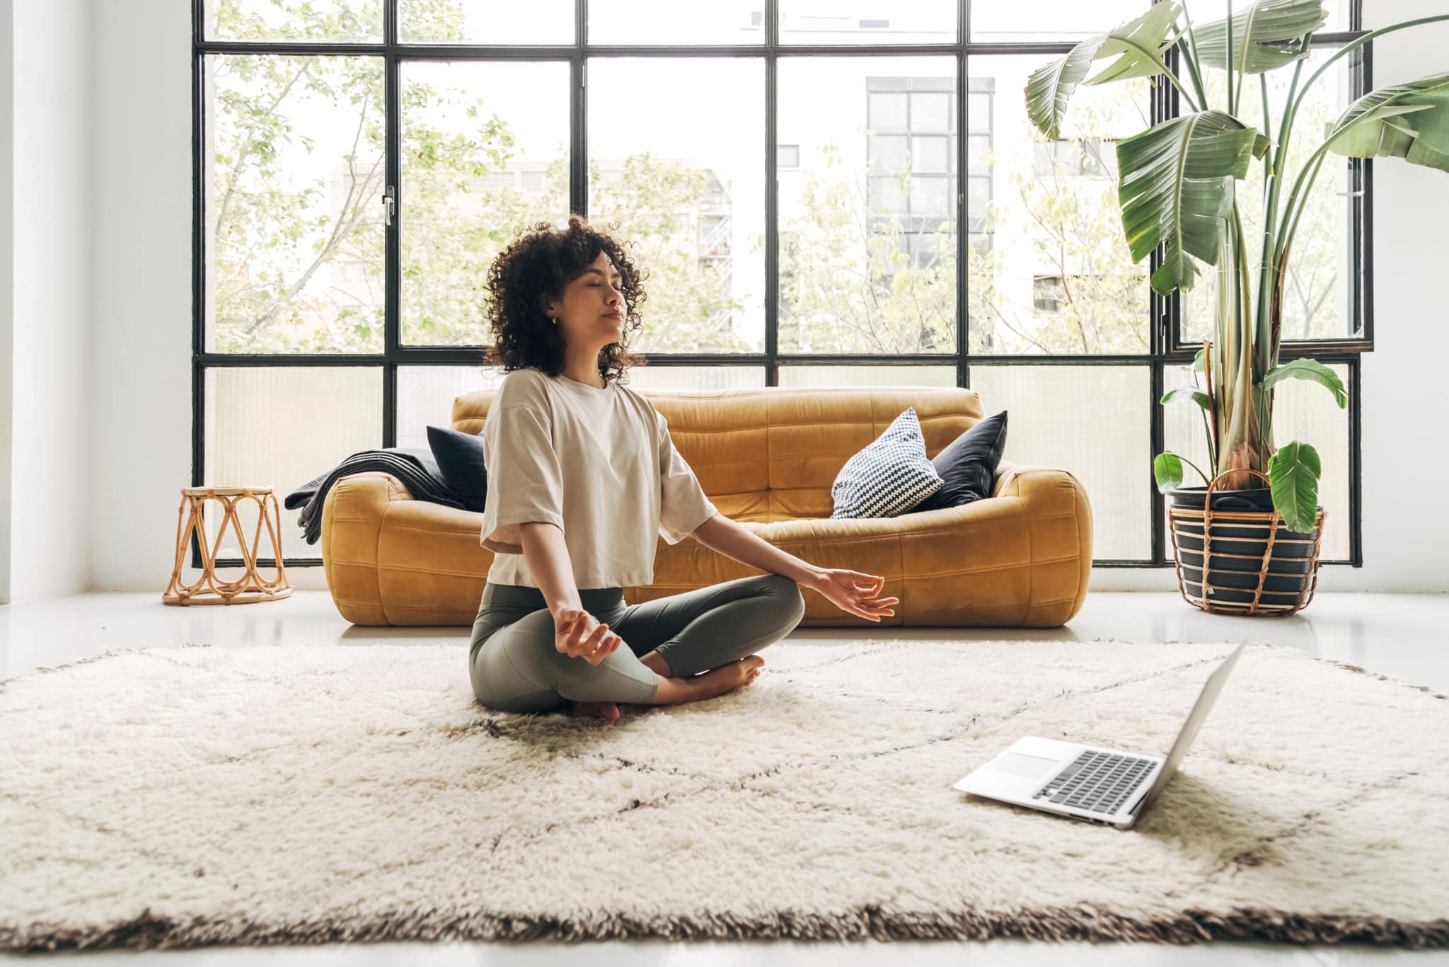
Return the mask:
<svg viewBox="0 0 1449 967">
<path fill-rule="evenodd" d="M 1117 200 L 1132 261 L 1165 245 L 1153 290 L 1191 289 L 1197 267 L 1188 255 L 1217 264 L 1233 178 L 1266 149 L 1256 129 L 1220 110 L 1174 117 L 1117 142 Z"/>
</svg>

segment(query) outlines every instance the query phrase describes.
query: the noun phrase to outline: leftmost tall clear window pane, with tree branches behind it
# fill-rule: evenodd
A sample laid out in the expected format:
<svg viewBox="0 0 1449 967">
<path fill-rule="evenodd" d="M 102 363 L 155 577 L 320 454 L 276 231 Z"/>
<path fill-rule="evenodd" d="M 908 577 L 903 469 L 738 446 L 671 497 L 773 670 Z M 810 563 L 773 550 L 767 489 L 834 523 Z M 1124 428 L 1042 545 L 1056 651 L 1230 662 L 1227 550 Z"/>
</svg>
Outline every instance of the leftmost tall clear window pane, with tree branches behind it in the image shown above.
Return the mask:
<svg viewBox="0 0 1449 967">
<path fill-rule="evenodd" d="M 203 61 L 209 352 L 383 351 L 383 58 Z"/>
</svg>

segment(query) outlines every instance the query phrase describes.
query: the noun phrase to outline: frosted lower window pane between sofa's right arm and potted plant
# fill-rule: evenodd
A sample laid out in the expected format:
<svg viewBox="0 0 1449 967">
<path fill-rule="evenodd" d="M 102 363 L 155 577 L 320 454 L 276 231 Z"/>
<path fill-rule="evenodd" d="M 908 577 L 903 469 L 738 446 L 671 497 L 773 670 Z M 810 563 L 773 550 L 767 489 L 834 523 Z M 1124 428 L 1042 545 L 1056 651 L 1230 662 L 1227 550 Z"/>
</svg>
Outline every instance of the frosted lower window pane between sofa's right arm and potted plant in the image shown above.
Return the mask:
<svg viewBox="0 0 1449 967">
<path fill-rule="evenodd" d="M 1098 561 L 1152 557 L 1149 386 L 1146 365 L 971 367 L 982 410 L 1010 412 L 1004 458 L 1068 470 L 1087 490 Z"/>
</svg>

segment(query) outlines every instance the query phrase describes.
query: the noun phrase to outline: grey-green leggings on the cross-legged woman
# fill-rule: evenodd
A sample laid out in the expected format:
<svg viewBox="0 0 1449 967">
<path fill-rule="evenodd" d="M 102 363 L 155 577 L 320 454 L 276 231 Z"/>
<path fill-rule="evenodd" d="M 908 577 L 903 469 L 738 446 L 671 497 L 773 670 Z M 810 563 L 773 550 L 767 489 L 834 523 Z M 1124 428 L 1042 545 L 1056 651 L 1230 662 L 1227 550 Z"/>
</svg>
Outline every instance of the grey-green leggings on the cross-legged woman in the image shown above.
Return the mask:
<svg viewBox="0 0 1449 967">
<path fill-rule="evenodd" d="M 543 593 L 522 584 L 483 589 L 468 645 L 472 693 L 498 712 L 546 712 L 565 702 L 648 703 L 659 677 L 640 655 L 658 651 L 672 677 L 719 668 L 794 631 L 806 613 L 800 586 L 781 574 L 742 577 L 625 605 L 620 587 L 580 589 L 580 605 L 623 644 L 597 665 L 554 645 Z"/>
</svg>

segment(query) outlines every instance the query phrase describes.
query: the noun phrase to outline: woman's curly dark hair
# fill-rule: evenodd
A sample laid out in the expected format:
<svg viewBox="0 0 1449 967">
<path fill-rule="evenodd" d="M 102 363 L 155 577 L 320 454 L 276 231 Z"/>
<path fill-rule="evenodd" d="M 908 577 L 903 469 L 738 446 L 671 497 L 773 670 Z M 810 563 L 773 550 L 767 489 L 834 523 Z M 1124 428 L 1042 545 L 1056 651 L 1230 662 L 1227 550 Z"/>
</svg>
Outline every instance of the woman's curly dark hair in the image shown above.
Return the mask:
<svg viewBox="0 0 1449 967">
<path fill-rule="evenodd" d="M 607 226 L 619 228 L 617 222 Z M 629 352 L 629 336 L 639 331 L 639 306 L 645 300 L 642 277 L 625 252 L 625 244 L 610 232 L 591 228 L 582 215 L 571 213 L 567 229 L 538 222 L 519 228 L 514 239 L 488 268 L 485 313 L 493 345 L 485 365 L 504 371 L 535 367 L 549 375 L 564 371 L 564 333 L 543 313 L 551 299 L 562 299 L 564 287 L 578 278 L 600 252 L 607 252 L 622 275 L 625 299 L 623 335 L 598 351 L 598 374 L 607 386 L 626 370 L 645 365 L 643 355 Z"/>
</svg>

